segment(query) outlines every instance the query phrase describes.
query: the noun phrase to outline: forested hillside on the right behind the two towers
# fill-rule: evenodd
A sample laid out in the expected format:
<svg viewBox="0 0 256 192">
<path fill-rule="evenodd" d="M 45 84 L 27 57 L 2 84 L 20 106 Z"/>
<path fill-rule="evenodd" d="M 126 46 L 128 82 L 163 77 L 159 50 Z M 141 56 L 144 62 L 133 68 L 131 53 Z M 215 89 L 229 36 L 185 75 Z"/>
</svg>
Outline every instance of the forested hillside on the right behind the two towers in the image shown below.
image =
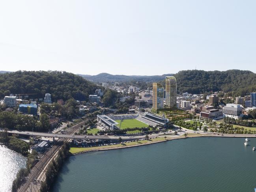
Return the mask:
<svg viewBox="0 0 256 192">
<path fill-rule="evenodd" d="M 179 71 L 177 79 L 179 93 L 204 93 L 208 91 L 232 92 L 244 96 L 256 91 L 256 74 L 251 71 Z M 164 80 L 162 81 L 164 82 Z"/>
</svg>

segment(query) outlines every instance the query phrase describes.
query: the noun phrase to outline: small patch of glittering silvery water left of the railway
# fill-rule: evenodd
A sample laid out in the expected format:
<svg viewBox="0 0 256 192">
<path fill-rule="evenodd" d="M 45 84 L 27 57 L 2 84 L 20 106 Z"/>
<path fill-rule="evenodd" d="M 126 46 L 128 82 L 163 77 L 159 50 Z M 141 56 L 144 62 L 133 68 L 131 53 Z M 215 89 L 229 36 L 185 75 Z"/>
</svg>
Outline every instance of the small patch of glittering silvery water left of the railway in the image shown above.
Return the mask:
<svg viewBox="0 0 256 192">
<path fill-rule="evenodd" d="M 26 157 L 0 145 L 0 192 L 10 192 L 20 168 L 26 167 Z"/>
</svg>

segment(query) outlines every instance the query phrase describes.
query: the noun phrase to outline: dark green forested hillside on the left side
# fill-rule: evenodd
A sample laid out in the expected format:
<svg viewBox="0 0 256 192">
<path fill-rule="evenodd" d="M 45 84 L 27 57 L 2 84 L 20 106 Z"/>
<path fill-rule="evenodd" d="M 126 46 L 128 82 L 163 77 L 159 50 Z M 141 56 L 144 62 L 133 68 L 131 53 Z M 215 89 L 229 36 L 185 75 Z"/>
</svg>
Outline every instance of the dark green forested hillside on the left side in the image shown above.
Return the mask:
<svg viewBox="0 0 256 192">
<path fill-rule="evenodd" d="M 94 83 L 61 71 L 16 71 L 0 74 L 0 98 L 10 93 L 37 93 L 34 98 L 44 98 L 45 93 L 52 94 L 52 101 L 70 99 L 85 101 L 88 95 L 98 88 Z"/>
</svg>

